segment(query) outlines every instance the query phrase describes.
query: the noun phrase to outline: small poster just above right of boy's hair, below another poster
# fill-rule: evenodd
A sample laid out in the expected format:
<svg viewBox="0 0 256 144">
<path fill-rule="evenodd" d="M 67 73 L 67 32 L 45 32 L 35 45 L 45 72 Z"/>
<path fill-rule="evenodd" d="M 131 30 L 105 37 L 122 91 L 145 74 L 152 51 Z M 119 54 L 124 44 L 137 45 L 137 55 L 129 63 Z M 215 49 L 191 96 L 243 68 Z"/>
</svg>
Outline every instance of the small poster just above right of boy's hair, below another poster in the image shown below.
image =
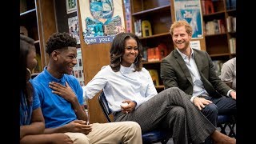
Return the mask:
<svg viewBox="0 0 256 144">
<path fill-rule="evenodd" d="M 79 38 L 79 27 L 78 27 L 78 16 L 74 16 L 67 19 L 69 26 L 69 33 L 73 38 L 77 39 L 77 44 L 80 44 Z"/>
</svg>

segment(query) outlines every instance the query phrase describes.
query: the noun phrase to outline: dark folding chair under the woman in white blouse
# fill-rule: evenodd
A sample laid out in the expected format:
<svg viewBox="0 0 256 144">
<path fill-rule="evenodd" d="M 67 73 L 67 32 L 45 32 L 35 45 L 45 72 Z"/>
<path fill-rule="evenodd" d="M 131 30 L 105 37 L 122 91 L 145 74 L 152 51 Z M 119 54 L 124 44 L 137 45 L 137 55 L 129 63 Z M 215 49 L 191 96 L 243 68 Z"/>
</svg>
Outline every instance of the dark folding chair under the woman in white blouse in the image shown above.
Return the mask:
<svg viewBox="0 0 256 144">
<path fill-rule="evenodd" d="M 106 120 L 108 122 L 111 122 L 110 114 L 112 114 L 112 112 L 107 104 L 106 96 L 103 91 L 98 96 L 98 102 L 99 105 L 102 107 L 102 111 L 106 117 Z M 166 144 L 170 138 L 170 133 L 166 132 L 165 130 L 151 130 L 142 134 L 143 144 L 155 142 L 161 142 L 162 144 Z"/>
</svg>

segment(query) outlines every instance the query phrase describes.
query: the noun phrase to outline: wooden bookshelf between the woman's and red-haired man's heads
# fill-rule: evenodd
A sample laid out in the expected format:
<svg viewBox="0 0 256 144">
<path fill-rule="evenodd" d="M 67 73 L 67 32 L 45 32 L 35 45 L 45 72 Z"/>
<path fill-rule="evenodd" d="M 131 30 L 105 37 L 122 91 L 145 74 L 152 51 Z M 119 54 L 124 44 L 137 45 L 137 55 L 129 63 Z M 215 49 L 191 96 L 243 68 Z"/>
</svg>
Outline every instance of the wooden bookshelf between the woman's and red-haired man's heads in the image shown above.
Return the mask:
<svg viewBox="0 0 256 144">
<path fill-rule="evenodd" d="M 143 49 L 148 50 L 157 47 L 159 44 L 164 44 L 167 47 L 168 54 L 170 50 L 174 50 L 169 33 L 172 23 L 170 0 L 130 0 L 130 9 L 132 32 L 134 34 L 136 34 L 134 22 L 146 20 L 151 25 L 152 34 L 144 37 L 142 35 L 145 34 L 139 36 Z M 143 67 L 147 70 L 158 71 L 159 86 L 156 86 L 158 92 L 164 89 L 160 78 L 160 63 L 161 60 L 149 62 L 147 58 L 142 62 Z"/>
</svg>

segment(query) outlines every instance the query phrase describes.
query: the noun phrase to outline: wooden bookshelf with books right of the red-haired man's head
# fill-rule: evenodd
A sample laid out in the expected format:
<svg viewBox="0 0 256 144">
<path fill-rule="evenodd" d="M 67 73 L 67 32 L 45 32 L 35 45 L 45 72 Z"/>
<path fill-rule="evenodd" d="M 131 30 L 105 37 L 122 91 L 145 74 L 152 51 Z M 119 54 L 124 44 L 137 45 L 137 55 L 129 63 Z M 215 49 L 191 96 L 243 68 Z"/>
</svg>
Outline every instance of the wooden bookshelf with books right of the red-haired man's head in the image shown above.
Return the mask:
<svg viewBox="0 0 256 144">
<path fill-rule="evenodd" d="M 234 58 L 236 56 L 236 0 L 212 0 L 214 11 L 208 14 L 204 12 L 206 9 L 204 2 L 206 0 L 201 0 L 206 51 L 213 60 L 227 61 Z M 215 29 L 210 23 L 215 26 Z"/>
</svg>

